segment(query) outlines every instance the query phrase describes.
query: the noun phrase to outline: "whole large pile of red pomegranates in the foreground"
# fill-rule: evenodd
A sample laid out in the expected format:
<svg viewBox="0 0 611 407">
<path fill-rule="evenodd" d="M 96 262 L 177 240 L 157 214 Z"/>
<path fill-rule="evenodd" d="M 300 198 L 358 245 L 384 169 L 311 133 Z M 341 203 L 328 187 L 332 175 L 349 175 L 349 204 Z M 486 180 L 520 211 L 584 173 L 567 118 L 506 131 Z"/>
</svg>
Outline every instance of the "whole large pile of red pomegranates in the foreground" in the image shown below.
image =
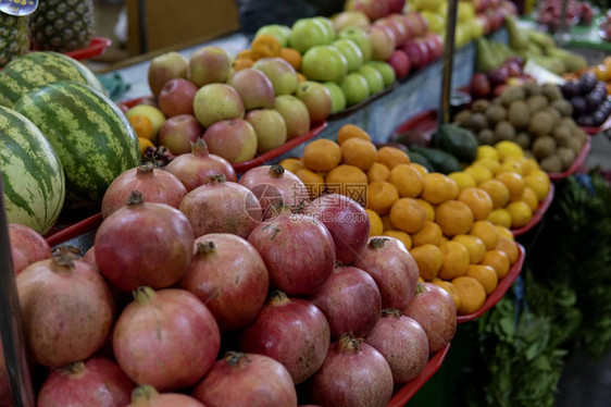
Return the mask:
<svg viewBox="0 0 611 407">
<path fill-rule="evenodd" d="M 184 157 L 216 171 L 125 172 L 83 258 L 11 226 L 38 407 L 386 406 L 451 341 L 451 297 L 359 203 Z"/>
</svg>

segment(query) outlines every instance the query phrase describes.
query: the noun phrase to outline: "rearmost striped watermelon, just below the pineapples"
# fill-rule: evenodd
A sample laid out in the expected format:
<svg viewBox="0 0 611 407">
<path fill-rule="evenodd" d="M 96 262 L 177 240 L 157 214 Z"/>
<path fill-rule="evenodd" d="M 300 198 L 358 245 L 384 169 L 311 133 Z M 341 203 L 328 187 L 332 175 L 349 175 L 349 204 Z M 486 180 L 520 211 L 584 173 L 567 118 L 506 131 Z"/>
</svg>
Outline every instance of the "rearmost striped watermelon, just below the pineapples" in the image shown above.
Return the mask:
<svg viewBox="0 0 611 407">
<path fill-rule="evenodd" d="M 0 104 L 12 108 L 22 95 L 58 81 L 74 81 L 107 91 L 96 75 L 77 60 L 51 51 L 30 52 L 11 61 L 0 72 Z"/>
</svg>

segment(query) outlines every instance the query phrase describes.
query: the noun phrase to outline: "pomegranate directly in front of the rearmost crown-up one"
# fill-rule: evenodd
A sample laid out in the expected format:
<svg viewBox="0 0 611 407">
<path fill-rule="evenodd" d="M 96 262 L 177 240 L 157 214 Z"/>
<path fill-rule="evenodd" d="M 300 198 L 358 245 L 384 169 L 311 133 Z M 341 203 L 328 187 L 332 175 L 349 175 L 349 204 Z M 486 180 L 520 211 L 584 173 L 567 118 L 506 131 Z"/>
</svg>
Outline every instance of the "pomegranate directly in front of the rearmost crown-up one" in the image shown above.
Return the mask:
<svg viewBox="0 0 611 407">
<path fill-rule="evenodd" d="M 225 175 L 209 176 L 183 199 L 183 212 L 196 237 L 209 233 L 232 233 L 247 238 L 262 220 L 257 197 L 246 187 L 226 182 Z"/>
</svg>

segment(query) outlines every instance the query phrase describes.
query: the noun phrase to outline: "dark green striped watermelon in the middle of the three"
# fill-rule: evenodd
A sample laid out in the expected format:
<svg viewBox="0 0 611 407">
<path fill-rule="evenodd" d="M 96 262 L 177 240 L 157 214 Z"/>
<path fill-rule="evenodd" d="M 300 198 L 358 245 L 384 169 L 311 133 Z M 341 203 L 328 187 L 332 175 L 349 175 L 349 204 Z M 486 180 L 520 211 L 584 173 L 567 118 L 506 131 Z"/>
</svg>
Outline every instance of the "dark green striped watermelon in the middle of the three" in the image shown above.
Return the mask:
<svg viewBox="0 0 611 407">
<path fill-rule="evenodd" d="M 55 82 L 25 94 L 14 109 L 53 146 L 71 205 L 100 205 L 113 180 L 140 163 L 138 138 L 125 114 L 87 85 Z"/>
</svg>

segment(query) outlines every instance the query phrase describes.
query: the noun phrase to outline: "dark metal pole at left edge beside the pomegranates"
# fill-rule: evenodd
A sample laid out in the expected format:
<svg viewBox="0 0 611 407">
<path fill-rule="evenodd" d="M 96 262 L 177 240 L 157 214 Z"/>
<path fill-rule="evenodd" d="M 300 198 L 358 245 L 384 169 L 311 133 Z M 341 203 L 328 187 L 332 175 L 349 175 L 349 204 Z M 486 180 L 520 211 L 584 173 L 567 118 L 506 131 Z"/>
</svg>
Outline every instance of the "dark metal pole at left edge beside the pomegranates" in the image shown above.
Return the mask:
<svg viewBox="0 0 611 407">
<path fill-rule="evenodd" d="M 1 175 L 0 171 L 0 341 L 4 350 L 13 406 L 34 407 L 34 390 L 25 357 L 22 313 L 13 271 Z"/>
</svg>

